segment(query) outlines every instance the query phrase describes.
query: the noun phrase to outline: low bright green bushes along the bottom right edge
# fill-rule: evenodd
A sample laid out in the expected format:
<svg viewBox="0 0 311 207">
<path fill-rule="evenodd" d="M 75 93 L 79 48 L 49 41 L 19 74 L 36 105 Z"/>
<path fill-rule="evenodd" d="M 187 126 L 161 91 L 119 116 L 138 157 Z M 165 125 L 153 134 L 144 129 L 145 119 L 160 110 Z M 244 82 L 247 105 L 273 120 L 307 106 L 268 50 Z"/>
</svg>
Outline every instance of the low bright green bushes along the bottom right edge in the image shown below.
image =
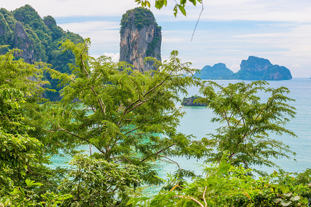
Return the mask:
<svg viewBox="0 0 311 207">
<path fill-rule="evenodd" d="M 216 166 L 206 168 L 206 177 L 190 184 L 161 190 L 152 199 L 138 197 L 129 204 L 135 206 L 308 206 L 311 186 L 297 182 L 301 173 L 276 172 L 254 179 L 252 169 L 228 164 L 225 155 Z M 310 171 L 310 170 L 309 170 Z M 309 182 L 310 182 L 310 175 Z"/>
</svg>

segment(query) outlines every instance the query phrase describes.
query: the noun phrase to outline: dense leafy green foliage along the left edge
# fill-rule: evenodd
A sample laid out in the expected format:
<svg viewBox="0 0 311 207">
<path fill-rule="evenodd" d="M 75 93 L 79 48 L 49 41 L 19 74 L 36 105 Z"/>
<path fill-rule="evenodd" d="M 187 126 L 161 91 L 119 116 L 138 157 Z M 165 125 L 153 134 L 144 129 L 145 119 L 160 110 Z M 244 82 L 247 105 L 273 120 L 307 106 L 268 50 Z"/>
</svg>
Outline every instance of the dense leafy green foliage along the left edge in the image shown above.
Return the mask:
<svg viewBox="0 0 311 207">
<path fill-rule="evenodd" d="M 53 170 L 45 166 L 48 157 L 43 144 L 31 136 L 35 130 L 32 114 L 44 101 L 41 86 L 46 81 L 41 79 L 45 66 L 15 60 L 17 52 L 21 51 L 13 49 L 0 55 L 0 206 L 62 203 L 60 198 L 70 195 L 45 193 L 48 187 L 43 184 L 53 186 L 48 181 Z M 44 196 L 55 200 L 48 201 Z"/>
</svg>

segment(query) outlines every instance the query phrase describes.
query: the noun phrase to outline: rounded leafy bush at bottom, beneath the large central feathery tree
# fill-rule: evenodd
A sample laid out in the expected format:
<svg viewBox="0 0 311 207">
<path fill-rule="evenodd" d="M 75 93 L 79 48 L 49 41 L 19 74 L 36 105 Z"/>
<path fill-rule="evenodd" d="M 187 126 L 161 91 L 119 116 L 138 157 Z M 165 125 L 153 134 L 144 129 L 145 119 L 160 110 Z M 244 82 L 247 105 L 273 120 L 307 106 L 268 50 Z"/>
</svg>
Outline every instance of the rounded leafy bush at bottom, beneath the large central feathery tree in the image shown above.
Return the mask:
<svg viewBox="0 0 311 207">
<path fill-rule="evenodd" d="M 65 202 L 71 206 L 117 206 L 124 204 L 142 179 L 133 164 L 115 164 L 105 159 L 77 155 L 59 189 L 73 195 Z"/>
</svg>

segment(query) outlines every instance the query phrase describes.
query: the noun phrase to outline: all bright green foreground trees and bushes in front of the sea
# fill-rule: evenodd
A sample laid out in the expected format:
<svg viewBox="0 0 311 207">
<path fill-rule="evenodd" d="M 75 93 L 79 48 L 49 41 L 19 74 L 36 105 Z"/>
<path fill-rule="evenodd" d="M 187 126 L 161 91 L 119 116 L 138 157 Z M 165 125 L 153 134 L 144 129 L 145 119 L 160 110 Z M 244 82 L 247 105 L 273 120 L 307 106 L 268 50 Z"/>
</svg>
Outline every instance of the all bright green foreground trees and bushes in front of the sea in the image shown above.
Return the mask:
<svg viewBox="0 0 311 207">
<path fill-rule="evenodd" d="M 176 51 L 164 63 L 153 59 L 160 69 L 153 76 L 142 74 L 108 57 L 88 56 L 89 44 L 62 44 L 75 54 L 71 75 L 15 59 L 17 50 L 0 56 L 1 206 L 308 206 L 310 170 L 252 177 L 252 164 L 274 165 L 270 157 L 290 152 L 267 135 L 294 135 L 282 126 L 284 116 L 294 115 L 286 88 L 265 88 L 261 81 L 226 88 L 201 83 L 180 75 L 196 70 Z M 61 80 L 61 101 L 41 97 L 44 70 Z M 219 116 L 214 121 L 227 124 L 211 139 L 194 141 L 176 131 L 178 93 L 193 84 Z M 271 92 L 266 103 L 259 102 L 258 90 Z M 59 154 L 73 157 L 72 168 L 48 167 L 50 155 Z M 209 161 L 206 177 L 180 168 L 176 156 Z M 163 183 L 153 168 L 157 160 L 178 170 L 158 195 L 144 197 L 140 186 Z"/>
</svg>

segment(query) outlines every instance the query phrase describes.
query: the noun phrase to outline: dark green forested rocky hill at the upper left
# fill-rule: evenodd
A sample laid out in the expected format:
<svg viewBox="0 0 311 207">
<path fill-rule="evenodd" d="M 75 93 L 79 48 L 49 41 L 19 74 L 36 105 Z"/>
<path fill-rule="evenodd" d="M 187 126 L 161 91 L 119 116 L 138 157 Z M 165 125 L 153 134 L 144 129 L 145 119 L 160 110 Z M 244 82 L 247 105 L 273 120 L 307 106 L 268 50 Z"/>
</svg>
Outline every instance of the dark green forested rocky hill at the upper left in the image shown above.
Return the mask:
<svg viewBox="0 0 311 207">
<path fill-rule="evenodd" d="M 72 52 L 62 52 L 59 49 L 59 41 L 70 39 L 75 43 L 83 41 L 79 34 L 65 32 L 57 26 L 53 17 L 44 19 L 29 5 L 17 8 L 9 12 L 0 9 L 0 44 L 8 45 L 8 49 L 19 48 L 23 50 L 17 57 L 23 58 L 27 63 L 44 61 L 51 64 L 52 68 L 60 72 L 70 73 L 68 63 L 74 63 L 75 57 Z M 2 50 L 2 54 L 8 50 Z M 46 91 L 47 98 L 59 101 L 58 81 L 51 79 L 50 75 L 44 73 L 44 79 L 49 84 L 45 87 L 56 90 Z"/>
</svg>

